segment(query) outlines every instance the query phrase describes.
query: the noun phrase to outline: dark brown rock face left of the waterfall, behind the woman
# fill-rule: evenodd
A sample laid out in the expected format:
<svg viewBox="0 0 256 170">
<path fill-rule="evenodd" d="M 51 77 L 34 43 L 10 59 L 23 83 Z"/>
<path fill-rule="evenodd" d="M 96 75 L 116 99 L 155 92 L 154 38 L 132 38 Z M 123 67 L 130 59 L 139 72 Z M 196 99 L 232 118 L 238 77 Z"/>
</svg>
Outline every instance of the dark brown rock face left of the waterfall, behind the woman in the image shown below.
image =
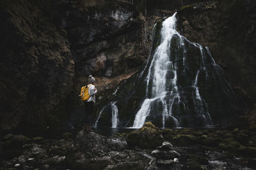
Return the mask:
<svg viewBox="0 0 256 170">
<path fill-rule="evenodd" d="M 59 126 L 78 106 L 88 74 L 138 69 L 155 20 L 115 0 L 1 1 L 0 8 L 1 130 Z"/>
</svg>

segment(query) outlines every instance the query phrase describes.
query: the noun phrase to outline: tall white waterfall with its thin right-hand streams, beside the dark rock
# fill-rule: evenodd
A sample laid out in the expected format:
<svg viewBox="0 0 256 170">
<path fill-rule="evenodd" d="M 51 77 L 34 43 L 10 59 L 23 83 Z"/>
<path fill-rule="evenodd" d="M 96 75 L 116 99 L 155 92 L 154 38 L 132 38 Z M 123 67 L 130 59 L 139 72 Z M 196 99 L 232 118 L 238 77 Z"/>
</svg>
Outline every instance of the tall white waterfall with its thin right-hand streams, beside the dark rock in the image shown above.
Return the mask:
<svg viewBox="0 0 256 170">
<path fill-rule="evenodd" d="M 180 122 L 173 112 L 173 107 L 175 106 L 177 108 L 181 105 L 184 109 L 187 108 L 186 104 L 180 100 L 180 91 L 182 91 L 182 89 L 180 89 L 178 85 L 178 74 L 181 74 L 180 69 L 182 69 L 182 74 L 188 74 L 188 71 L 186 71 L 186 53 L 188 50 L 186 49 L 185 41 L 200 50 L 200 67 L 198 71 L 196 71 L 194 82 L 190 85 L 195 92 L 195 97 L 193 97 L 195 110 L 198 117 L 204 119 L 205 126 L 212 125 L 211 117 L 207 111 L 207 104 L 203 102 L 198 87 L 200 71 L 204 70 L 207 75 L 204 49 L 198 43 L 191 43 L 175 30 L 175 16 L 176 13 L 172 17 L 164 20 L 160 32 L 161 43 L 152 54 L 148 71 L 145 71 L 147 66 L 143 69 L 143 72 L 147 73 L 147 98 L 141 104 L 138 113 L 136 113 L 134 124 L 132 125 L 134 128 L 142 127 L 147 117 L 150 116 L 151 113 L 155 114 L 153 113 L 154 111 L 159 112 L 158 110 L 161 110 L 163 127 L 165 127 L 165 122 L 168 118 L 172 119 L 175 127 L 180 127 Z M 179 64 L 179 57 L 182 57 L 182 66 Z M 157 110 L 156 103 L 157 107 L 161 106 L 162 108 L 158 108 Z"/>
</svg>

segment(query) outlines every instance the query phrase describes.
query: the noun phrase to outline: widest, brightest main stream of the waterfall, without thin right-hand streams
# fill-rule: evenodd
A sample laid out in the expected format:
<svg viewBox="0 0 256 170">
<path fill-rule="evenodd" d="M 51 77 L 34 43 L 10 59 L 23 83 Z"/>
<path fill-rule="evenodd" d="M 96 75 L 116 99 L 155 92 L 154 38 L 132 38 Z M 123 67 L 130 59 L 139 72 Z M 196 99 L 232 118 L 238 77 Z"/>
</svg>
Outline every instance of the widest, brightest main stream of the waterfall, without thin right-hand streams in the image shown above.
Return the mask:
<svg viewBox="0 0 256 170">
<path fill-rule="evenodd" d="M 172 79 L 172 89 L 171 93 L 173 96 L 179 98 L 179 91 L 177 87 L 177 66 L 170 60 L 170 43 L 172 36 L 178 32 L 175 30 L 175 15 L 167 18 L 163 22 L 163 28 L 161 29 L 161 44 L 157 47 L 156 52 L 153 55 L 152 62 L 149 67 L 147 75 L 147 97 L 141 109 L 136 114 L 134 124 L 132 127 L 140 128 L 145 123 L 145 119 L 150 113 L 150 107 L 153 101 L 159 100 L 164 106 L 163 111 L 163 126 L 165 122 L 165 117 L 168 117 L 168 106 L 166 103 L 166 96 L 168 94 L 166 75 L 169 73 L 174 74 Z M 152 81 L 152 87 L 149 86 L 150 81 Z M 148 94 L 150 93 L 150 95 Z M 170 113 L 170 116 L 172 113 Z"/>
</svg>

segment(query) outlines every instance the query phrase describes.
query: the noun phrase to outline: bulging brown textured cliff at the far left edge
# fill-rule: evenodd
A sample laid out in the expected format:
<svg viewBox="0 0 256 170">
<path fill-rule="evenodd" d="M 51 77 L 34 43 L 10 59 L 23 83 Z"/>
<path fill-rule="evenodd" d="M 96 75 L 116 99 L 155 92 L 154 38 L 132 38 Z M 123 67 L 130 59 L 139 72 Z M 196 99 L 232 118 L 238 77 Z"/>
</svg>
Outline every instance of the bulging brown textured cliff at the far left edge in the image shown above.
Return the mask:
<svg viewBox="0 0 256 170">
<path fill-rule="evenodd" d="M 70 91 L 74 60 L 67 32 L 44 11 L 49 8 L 1 1 L 1 129 L 22 119 L 40 124 Z"/>
</svg>

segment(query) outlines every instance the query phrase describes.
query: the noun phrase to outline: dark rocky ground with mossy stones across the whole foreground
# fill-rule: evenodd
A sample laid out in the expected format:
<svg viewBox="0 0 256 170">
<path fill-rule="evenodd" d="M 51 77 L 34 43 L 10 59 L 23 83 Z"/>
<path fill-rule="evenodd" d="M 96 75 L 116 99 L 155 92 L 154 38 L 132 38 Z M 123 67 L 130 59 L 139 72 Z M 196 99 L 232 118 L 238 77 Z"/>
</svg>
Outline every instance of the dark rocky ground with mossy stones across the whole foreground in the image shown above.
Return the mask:
<svg viewBox="0 0 256 170">
<path fill-rule="evenodd" d="M 7 134 L 0 143 L 1 169 L 253 169 L 255 127 L 163 129 L 146 123 L 139 131 L 76 138 L 28 138 Z"/>
</svg>

